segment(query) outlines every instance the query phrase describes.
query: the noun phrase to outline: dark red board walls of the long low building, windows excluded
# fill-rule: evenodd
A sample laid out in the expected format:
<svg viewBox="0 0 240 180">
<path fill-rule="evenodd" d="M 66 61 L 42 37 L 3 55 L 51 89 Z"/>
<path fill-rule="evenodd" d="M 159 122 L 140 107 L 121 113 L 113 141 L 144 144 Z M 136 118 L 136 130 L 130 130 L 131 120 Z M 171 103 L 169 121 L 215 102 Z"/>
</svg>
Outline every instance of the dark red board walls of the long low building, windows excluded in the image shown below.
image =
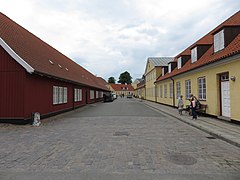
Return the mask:
<svg viewBox="0 0 240 180">
<path fill-rule="evenodd" d="M 53 86 L 67 87 L 67 103 L 53 105 Z M 82 101 L 74 102 L 74 88 L 82 89 Z M 90 100 L 90 89 L 29 74 L 0 47 L 0 119 L 31 119 L 33 112 L 51 115 L 102 100 Z"/>
</svg>

